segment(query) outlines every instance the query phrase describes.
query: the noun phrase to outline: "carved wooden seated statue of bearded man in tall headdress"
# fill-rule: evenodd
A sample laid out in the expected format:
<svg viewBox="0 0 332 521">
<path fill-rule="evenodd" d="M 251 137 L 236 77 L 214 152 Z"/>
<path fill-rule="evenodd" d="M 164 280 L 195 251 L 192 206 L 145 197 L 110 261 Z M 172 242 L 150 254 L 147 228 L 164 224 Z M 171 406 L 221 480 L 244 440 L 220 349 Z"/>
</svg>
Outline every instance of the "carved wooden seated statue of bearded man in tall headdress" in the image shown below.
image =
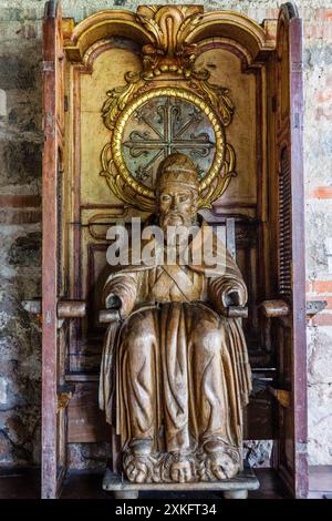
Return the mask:
<svg viewBox="0 0 332 521">
<path fill-rule="evenodd" d="M 227 308 L 246 305 L 247 289 L 226 246 L 197 214 L 197 200 L 191 160 L 166 157 L 154 218 L 165 233 L 196 226 L 184 246 L 188 262 L 120 266 L 104 288 L 106 308 L 122 320 L 105 335 L 100 405 L 121 436 L 123 470 L 136 483 L 217 481 L 241 468 L 251 377 L 241 321 L 228 318 Z M 212 258 L 205 252 L 195 264 L 203 231 L 212 236 Z M 180 239 L 175 248 L 178 259 Z"/>
</svg>

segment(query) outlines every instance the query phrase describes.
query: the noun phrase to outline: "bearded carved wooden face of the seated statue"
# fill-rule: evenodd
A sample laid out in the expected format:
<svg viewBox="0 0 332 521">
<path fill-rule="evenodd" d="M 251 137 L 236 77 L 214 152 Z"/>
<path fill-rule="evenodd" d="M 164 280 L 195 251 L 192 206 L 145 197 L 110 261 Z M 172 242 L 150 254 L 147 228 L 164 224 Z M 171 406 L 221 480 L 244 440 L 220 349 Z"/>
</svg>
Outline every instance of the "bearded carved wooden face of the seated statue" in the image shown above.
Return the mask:
<svg viewBox="0 0 332 521">
<path fill-rule="evenodd" d="M 167 226 L 191 226 L 197 213 L 195 191 L 183 183 L 165 184 L 159 193 L 158 211 L 164 231 Z"/>
</svg>

